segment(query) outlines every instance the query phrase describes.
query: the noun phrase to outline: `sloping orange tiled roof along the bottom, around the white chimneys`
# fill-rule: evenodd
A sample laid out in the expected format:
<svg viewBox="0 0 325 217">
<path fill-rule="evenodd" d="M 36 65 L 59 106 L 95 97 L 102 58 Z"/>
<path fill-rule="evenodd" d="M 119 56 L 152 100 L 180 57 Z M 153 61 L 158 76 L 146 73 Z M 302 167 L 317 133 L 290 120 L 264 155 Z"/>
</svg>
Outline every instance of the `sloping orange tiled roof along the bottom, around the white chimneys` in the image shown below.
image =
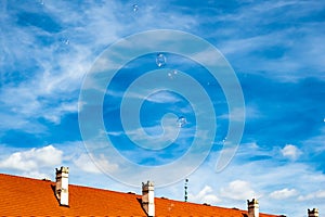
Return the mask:
<svg viewBox="0 0 325 217">
<path fill-rule="evenodd" d="M 0 216 L 146 216 L 141 195 L 69 184 L 60 206 L 55 182 L 0 174 Z M 243 217 L 246 210 L 155 199 L 156 216 Z M 260 217 L 275 215 L 260 214 Z"/>
</svg>

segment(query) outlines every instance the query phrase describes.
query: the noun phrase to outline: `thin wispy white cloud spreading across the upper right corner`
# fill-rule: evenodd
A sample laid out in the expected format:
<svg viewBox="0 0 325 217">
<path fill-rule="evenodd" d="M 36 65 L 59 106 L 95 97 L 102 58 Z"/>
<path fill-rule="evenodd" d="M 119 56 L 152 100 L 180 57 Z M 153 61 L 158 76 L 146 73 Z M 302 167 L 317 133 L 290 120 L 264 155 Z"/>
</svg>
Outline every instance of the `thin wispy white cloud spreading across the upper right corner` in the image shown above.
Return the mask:
<svg viewBox="0 0 325 217">
<path fill-rule="evenodd" d="M 237 26 L 244 28 L 251 28 L 251 26 L 259 25 L 265 22 L 283 22 L 286 20 L 299 20 L 309 16 L 310 14 L 317 14 L 323 8 L 323 3 L 317 1 L 272 1 L 272 2 L 255 2 L 238 8 L 234 14 L 225 14 L 216 18 L 221 21 L 234 21 Z M 289 10 L 291 9 L 291 10 Z M 265 11 L 268 11 L 265 13 Z M 271 12 L 273 11 L 273 12 Z M 274 16 L 274 14 L 287 11 L 284 16 Z M 262 18 L 262 20 L 261 20 Z M 247 23 L 249 21 L 249 23 Z M 227 36 L 227 40 L 222 40 L 220 50 L 230 58 L 235 68 L 240 71 L 270 76 L 280 81 L 297 81 L 308 77 L 317 77 L 324 79 L 322 68 L 324 68 L 324 33 L 318 28 L 323 25 L 321 21 L 313 23 L 306 23 L 296 28 L 288 26 L 287 28 L 272 29 L 272 31 L 264 31 L 260 28 L 259 34 L 246 35 L 240 34 L 232 27 L 223 28 L 221 31 L 216 31 L 216 36 Z M 218 34 L 218 35 L 217 35 Z M 234 35 L 239 37 L 233 37 Z M 292 38 L 292 36 L 298 36 Z M 296 41 L 299 41 L 297 43 Z M 283 55 L 272 59 L 260 54 L 260 50 L 268 50 L 272 47 L 285 49 Z M 304 50 L 306 52 L 301 52 Z M 246 61 L 243 61 L 243 60 Z M 299 61 L 297 61 L 299 60 Z M 258 71 L 253 67 L 251 62 L 259 62 Z M 281 65 L 281 67 L 278 67 Z M 308 67 L 308 69 L 306 69 Z"/>
</svg>

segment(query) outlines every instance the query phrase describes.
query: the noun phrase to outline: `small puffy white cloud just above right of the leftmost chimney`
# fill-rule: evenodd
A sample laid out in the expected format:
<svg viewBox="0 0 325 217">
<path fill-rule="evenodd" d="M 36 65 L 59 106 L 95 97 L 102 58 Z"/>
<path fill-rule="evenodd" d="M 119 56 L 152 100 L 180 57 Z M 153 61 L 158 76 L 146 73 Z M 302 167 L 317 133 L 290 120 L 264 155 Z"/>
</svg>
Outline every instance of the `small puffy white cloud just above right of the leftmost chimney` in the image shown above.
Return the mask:
<svg viewBox="0 0 325 217">
<path fill-rule="evenodd" d="M 109 163 L 104 155 L 100 155 L 99 158 L 95 158 L 91 154 L 81 154 L 78 158 L 74 159 L 74 163 L 81 170 L 92 174 L 102 174 L 103 171 L 112 173 L 118 169 L 118 165 Z M 103 171 L 99 167 L 101 167 Z"/>
</svg>

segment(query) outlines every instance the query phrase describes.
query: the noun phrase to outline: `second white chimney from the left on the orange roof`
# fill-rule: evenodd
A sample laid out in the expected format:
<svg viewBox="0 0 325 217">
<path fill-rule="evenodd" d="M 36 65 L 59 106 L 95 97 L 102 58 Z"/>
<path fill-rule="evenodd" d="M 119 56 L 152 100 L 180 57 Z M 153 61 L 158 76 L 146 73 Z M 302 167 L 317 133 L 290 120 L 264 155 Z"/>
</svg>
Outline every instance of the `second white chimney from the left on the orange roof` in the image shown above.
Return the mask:
<svg viewBox="0 0 325 217">
<path fill-rule="evenodd" d="M 154 182 L 142 182 L 142 207 L 147 216 L 155 216 Z"/>
</svg>

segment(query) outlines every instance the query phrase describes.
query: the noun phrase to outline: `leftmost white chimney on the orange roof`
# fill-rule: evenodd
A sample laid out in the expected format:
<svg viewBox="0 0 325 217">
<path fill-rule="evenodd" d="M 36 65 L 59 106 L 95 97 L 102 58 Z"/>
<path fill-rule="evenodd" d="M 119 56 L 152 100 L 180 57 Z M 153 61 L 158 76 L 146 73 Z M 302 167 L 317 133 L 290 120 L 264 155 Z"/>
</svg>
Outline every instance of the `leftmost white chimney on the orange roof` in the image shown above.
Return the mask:
<svg viewBox="0 0 325 217">
<path fill-rule="evenodd" d="M 56 184 L 55 184 L 55 195 L 62 206 L 69 205 L 69 191 L 68 191 L 68 177 L 69 167 L 56 168 Z"/>
</svg>

